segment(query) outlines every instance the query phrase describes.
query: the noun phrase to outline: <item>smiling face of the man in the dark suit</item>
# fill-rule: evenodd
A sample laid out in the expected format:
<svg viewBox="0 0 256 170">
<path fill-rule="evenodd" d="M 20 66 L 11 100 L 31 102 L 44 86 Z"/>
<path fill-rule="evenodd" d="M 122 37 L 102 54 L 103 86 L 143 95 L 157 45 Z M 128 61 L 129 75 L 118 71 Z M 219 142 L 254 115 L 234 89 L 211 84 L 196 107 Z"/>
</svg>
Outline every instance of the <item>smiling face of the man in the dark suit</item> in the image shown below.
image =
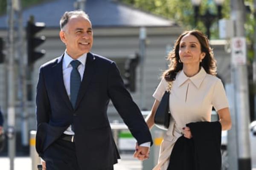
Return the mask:
<svg viewBox="0 0 256 170">
<path fill-rule="evenodd" d="M 60 37 L 66 45 L 67 54 L 73 59 L 88 53 L 93 46 L 91 23 L 83 16 L 70 17 L 67 25 L 60 31 Z"/>
</svg>

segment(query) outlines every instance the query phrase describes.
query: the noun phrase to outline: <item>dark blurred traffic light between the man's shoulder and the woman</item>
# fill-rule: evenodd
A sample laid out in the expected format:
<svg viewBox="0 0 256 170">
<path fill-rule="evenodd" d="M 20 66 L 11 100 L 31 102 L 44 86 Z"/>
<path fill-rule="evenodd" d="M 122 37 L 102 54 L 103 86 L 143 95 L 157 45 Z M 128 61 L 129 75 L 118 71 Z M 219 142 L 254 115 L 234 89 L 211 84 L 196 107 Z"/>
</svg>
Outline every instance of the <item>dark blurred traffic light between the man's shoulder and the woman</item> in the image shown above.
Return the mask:
<svg viewBox="0 0 256 170">
<path fill-rule="evenodd" d="M 125 87 L 129 88 L 131 92 L 136 91 L 136 68 L 139 63 L 139 55 L 136 54 L 133 58 L 128 58 L 125 61 Z"/>
</svg>

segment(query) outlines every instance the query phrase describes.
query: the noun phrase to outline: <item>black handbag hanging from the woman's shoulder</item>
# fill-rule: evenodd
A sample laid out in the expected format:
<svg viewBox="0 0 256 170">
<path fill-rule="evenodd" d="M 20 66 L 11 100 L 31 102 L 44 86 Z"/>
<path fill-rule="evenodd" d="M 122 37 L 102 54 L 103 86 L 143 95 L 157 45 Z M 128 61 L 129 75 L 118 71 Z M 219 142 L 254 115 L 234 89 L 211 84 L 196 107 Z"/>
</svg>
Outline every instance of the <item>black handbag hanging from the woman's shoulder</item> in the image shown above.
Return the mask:
<svg viewBox="0 0 256 170">
<path fill-rule="evenodd" d="M 171 113 L 169 111 L 170 92 L 165 91 L 154 116 L 154 123 L 157 127 L 167 130 L 170 124 Z"/>
</svg>

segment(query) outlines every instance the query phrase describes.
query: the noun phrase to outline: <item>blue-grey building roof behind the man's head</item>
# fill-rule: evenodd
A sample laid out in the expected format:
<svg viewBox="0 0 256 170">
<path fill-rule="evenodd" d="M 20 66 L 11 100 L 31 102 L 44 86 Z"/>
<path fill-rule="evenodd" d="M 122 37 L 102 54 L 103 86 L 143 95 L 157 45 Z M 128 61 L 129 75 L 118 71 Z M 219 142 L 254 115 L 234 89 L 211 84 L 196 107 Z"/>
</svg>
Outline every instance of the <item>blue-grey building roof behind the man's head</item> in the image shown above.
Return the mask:
<svg viewBox="0 0 256 170">
<path fill-rule="evenodd" d="M 59 20 L 65 11 L 74 10 L 76 0 L 52 0 L 32 6 L 23 11 L 23 26 L 30 15 L 36 22 L 44 22 L 48 28 L 59 27 Z M 87 0 L 85 10 L 90 16 L 93 27 L 137 27 L 137 26 L 174 26 L 167 20 L 136 8 L 131 8 L 115 0 Z M 8 17 L 0 17 L 0 28 L 6 28 Z"/>
</svg>

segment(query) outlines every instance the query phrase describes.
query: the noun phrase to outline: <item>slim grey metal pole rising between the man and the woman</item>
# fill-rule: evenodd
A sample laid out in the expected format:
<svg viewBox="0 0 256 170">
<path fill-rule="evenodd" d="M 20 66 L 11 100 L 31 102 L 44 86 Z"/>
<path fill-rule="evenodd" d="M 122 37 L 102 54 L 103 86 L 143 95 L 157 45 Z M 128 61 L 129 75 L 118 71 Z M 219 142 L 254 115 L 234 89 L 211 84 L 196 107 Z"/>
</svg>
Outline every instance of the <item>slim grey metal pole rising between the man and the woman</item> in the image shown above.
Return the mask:
<svg viewBox="0 0 256 170">
<path fill-rule="evenodd" d="M 140 28 L 140 106 L 141 110 L 145 109 L 145 49 L 146 49 L 146 28 Z"/>
</svg>

